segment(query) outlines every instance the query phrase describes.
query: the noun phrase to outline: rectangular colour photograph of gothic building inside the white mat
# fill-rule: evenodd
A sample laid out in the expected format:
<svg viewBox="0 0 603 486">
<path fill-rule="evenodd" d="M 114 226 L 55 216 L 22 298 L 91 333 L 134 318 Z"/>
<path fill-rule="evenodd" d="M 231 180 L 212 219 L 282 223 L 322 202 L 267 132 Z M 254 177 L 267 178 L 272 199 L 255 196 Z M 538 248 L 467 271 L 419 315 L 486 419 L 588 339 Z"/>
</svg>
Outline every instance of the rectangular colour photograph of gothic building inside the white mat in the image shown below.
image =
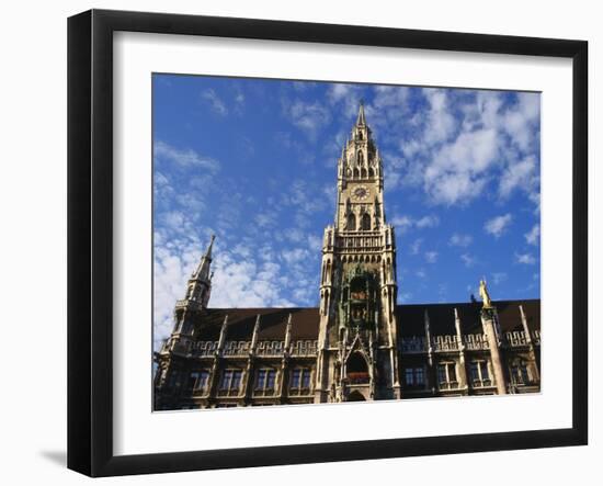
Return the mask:
<svg viewBox="0 0 603 486">
<path fill-rule="evenodd" d="M 151 77 L 153 411 L 541 393 L 541 92 Z"/>
</svg>

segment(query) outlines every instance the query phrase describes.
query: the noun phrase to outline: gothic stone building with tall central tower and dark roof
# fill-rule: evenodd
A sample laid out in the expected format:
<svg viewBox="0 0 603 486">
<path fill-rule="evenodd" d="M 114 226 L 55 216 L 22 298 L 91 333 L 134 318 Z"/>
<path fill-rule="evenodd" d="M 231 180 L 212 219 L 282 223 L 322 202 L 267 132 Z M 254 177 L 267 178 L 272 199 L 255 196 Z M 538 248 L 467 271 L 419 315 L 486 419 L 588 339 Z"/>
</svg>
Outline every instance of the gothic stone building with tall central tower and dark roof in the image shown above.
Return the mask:
<svg viewBox="0 0 603 486">
<path fill-rule="evenodd" d="M 209 308 L 212 247 L 155 354 L 157 410 L 539 391 L 539 301 L 397 305 L 396 237 L 361 105 L 318 308 Z"/>
</svg>

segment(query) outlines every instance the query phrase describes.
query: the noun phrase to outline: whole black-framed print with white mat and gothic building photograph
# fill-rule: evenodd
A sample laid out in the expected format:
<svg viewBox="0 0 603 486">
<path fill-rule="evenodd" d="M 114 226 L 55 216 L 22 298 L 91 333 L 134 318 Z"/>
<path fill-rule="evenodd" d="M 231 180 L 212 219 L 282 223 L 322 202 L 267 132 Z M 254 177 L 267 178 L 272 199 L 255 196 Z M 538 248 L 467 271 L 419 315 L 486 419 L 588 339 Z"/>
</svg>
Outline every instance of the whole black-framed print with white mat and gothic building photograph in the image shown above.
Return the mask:
<svg viewBox="0 0 603 486">
<path fill-rule="evenodd" d="M 70 468 L 587 443 L 585 42 L 68 26 Z"/>
</svg>

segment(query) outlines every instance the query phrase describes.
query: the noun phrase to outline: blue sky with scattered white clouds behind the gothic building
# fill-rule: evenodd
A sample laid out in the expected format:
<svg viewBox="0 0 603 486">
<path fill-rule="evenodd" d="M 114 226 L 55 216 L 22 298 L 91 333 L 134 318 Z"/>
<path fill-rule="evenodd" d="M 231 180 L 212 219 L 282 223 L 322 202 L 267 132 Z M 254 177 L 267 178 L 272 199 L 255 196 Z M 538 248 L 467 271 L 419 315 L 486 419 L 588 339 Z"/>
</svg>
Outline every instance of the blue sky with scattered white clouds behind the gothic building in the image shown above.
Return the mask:
<svg viewBox="0 0 603 486">
<path fill-rule="evenodd" d="M 364 100 L 398 303 L 539 297 L 541 97 L 153 76 L 155 323 L 216 234 L 212 307 L 316 306 L 337 159 Z"/>
</svg>

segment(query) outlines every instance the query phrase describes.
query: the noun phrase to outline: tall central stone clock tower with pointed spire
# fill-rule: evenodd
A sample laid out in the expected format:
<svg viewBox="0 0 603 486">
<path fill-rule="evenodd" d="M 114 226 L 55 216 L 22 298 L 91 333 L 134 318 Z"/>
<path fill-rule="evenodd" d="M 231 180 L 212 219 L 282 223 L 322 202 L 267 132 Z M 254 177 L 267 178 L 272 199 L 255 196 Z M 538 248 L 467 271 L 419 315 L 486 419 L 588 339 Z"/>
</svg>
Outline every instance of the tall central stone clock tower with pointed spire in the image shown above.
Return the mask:
<svg viewBox="0 0 603 486">
<path fill-rule="evenodd" d="M 322 244 L 316 402 L 400 397 L 396 239 L 383 190 L 383 161 L 361 103 Z"/>
</svg>

